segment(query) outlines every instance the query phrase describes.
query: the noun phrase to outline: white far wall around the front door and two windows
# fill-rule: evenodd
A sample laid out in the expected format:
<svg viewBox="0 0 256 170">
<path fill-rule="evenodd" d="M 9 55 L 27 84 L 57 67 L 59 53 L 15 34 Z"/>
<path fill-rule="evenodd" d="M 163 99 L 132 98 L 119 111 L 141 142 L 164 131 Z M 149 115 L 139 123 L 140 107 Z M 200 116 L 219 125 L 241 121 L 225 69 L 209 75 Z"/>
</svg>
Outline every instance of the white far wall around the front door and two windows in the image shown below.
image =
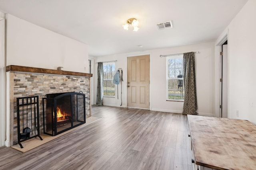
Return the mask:
<svg viewBox="0 0 256 170">
<path fill-rule="evenodd" d="M 127 57 L 137 55 L 150 55 L 150 109 L 156 111 L 166 111 L 173 113 L 182 113 L 183 102 L 166 101 L 166 58 L 160 58 L 160 55 L 185 53 L 191 51 L 200 51 L 196 55 L 196 83 L 198 97 L 198 113 L 200 115 L 214 115 L 214 42 L 201 43 L 194 45 L 184 45 L 179 47 L 170 47 L 165 49 L 155 49 L 136 53 L 125 53 L 95 57 L 94 69 L 94 88 L 97 88 L 97 64 L 96 62 L 114 61 L 116 68 L 123 69 L 122 82 L 122 102 L 123 107 L 127 107 Z M 117 106 L 121 104 L 120 100 L 121 85 L 118 85 L 119 100 L 116 98 L 103 98 L 105 106 Z M 117 91 L 116 91 L 117 92 Z M 96 90 L 94 93 L 96 96 Z M 96 104 L 96 97 L 94 99 Z"/>
</svg>

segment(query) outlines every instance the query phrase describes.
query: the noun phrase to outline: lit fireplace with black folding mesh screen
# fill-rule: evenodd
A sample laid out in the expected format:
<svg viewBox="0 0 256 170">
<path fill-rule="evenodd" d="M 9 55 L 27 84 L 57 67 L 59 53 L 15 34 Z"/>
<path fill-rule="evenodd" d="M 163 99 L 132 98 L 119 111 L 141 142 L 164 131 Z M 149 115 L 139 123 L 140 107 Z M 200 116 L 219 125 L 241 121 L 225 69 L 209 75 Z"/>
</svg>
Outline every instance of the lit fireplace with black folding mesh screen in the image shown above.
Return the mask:
<svg viewBox="0 0 256 170">
<path fill-rule="evenodd" d="M 46 94 L 43 98 L 44 133 L 56 136 L 85 123 L 85 94 Z"/>
</svg>

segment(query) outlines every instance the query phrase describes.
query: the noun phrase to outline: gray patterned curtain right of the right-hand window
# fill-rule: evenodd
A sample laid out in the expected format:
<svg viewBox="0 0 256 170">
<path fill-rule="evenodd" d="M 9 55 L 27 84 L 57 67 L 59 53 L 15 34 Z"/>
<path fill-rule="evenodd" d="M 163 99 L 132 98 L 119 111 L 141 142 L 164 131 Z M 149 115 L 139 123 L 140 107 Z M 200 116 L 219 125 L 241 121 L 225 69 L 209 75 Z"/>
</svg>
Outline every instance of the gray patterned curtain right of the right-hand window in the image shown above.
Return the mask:
<svg viewBox="0 0 256 170">
<path fill-rule="evenodd" d="M 183 54 L 183 71 L 184 71 L 184 115 L 196 115 L 196 64 L 194 52 Z"/>
</svg>

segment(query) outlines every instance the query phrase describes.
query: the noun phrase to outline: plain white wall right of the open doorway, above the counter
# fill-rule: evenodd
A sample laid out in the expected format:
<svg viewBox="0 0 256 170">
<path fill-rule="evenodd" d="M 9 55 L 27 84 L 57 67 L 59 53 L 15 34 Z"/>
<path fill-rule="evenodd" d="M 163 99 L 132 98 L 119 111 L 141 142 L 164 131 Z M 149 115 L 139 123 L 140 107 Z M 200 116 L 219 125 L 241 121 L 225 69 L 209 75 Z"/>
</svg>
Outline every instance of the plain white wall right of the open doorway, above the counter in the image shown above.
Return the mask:
<svg viewBox="0 0 256 170">
<path fill-rule="evenodd" d="M 229 32 L 229 117 L 253 123 L 256 123 L 255 9 L 256 1 L 248 0 L 226 28 Z"/>
</svg>

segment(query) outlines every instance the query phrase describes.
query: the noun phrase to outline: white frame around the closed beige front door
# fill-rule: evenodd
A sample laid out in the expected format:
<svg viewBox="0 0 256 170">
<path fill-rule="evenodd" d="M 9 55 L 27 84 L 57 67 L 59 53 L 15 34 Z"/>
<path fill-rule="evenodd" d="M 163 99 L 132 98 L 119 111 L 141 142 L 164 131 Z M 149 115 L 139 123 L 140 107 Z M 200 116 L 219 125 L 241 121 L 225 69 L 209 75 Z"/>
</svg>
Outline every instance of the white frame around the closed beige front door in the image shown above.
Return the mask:
<svg viewBox="0 0 256 170">
<path fill-rule="evenodd" d="M 133 54 L 133 55 L 126 55 L 126 78 L 128 77 L 128 68 L 127 68 L 127 64 L 128 64 L 128 57 L 136 57 L 136 56 L 141 56 L 141 55 L 149 55 L 149 81 L 151 80 L 151 53 L 138 53 L 138 54 Z M 124 82 L 125 84 L 127 84 L 127 80 L 126 82 Z M 128 89 L 127 89 L 127 86 L 125 86 L 126 88 L 126 107 L 128 107 Z M 151 110 L 152 108 L 152 102 L 151 102 L 151 86 L 150 86 L 150 83 L 149 83 L 149 102 L 150 102 L 150 105 L 149 105 L 149 110 Z"/>
</svg>

